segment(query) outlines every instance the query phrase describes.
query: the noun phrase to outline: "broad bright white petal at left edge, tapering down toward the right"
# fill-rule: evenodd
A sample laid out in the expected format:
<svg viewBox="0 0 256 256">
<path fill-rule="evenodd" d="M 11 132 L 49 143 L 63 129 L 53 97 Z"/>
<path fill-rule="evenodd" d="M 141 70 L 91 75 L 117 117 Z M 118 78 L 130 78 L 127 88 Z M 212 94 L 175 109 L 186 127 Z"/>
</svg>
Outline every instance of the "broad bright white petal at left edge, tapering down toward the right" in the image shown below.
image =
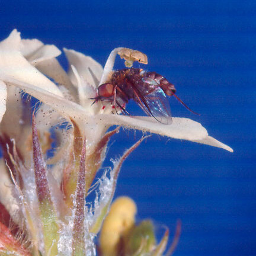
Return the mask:
<svg viewBox="0 0 256 256">
<path fill-rule="evenodd" d="M 44 88 L 56 95 L 62 95 L 59 88 L 21 55 L 20 33 L 12 31 L 10 36 L 0 42 L 0 74 L 15 78 L 36 87 Z"/>
</svg>

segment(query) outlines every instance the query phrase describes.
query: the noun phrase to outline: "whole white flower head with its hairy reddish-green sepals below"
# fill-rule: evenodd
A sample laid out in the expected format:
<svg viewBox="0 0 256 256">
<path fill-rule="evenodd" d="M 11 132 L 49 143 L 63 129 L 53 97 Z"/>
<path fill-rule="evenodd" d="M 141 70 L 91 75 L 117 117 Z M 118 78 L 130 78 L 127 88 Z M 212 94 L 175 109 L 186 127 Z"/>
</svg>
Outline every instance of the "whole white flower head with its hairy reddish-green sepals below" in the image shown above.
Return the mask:
<svg viewBox="0 0 256 256">
<path fill-rule="evenodd" d="M 104 172 L 96 184 L 98 193 L 91 202 L 93 207 L 88 207 L 85 199 L 94 189 L 92 182 L 104 161 L 108 140 L 118 131 L 107 132 L 111 126 L 233 152 L 210 137 L 196 121 L 173 117 L 168 125 L 153 117 L 114 114 L 110 103 L 104 108 L 101 101 L 92 104 L 97 88 L 113 72 L 117 53 L 128 58 L 126 65 L 138 58 L 144 58 L 146 63 L 142 53 L 116 48 L 103 69 L 89 56 L 64 51 L 69 60 L 68 73 L 56 59 L 61 53 L 56 46 L 44 45 L 37 39 L 21 40 L 17 30 L 0 42 L 0 143 L 8 165 L 7 172 L 4 162 L 0 162 L 4 177 L 0 180 L 0 207 L 4 212 L 0 216 L 0 254 L 95 255 L 94 237 L 113 199 L 121 164 L 145 139 L 114 161 L 109 175 Z M 21 100 L 24 92 L 42 103 L 36 117 L 33 115 L 32 126 L 31 107 Z M 49 130 L 63 121 L 68 121 L 72 129 L 56 132 L 57 152 L 45 160 L 44 153 L 52 144 Z M 5 215 L 18 224 L 15 229 L 8 228 L 6 218 L 2 222 Z M 17 241 L 21 233 L 29 239 L 28 245 Z M 167 238 L 168 231 L 151 255 L 162 254 Z"/>
</svg>

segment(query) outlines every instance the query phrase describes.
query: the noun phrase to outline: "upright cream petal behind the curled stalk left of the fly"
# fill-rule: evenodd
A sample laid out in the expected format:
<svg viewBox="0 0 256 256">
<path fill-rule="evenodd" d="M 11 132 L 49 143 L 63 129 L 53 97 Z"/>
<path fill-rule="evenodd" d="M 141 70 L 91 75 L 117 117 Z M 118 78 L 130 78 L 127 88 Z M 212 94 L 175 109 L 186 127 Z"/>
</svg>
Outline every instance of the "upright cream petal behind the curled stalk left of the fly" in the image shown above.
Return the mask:
<svg viewBox="0 0 256 256">
<path fill-rule="evenodd" d="M 92 57 L 76 52 L 75 50 L 68 50 L 65 48 L 63 50 L 69 60 L 70 68 L 71 65 L 75 66 L 79 75 L 81 75 L 82 78 L 88 82 L 88 84 L 91 84 L 94 87 L 98 87 L 98 84 L 95 84 L 94 79 L 92 78 L 91 72 L 89 72 L 89 68 L 91 69 L 92 73 L 94 73 L 98 81 L 100 81 L 101 75 L 103 73 L 103 67 L 100 65 L 100 63 L 92 59 Z M 71 71 L 71 69 L 69 69 L 69 71 Z M 69 72 L 69 78 L 74 85 L 77 85 L 76 79 L 72 72 Z"/>
</svg>

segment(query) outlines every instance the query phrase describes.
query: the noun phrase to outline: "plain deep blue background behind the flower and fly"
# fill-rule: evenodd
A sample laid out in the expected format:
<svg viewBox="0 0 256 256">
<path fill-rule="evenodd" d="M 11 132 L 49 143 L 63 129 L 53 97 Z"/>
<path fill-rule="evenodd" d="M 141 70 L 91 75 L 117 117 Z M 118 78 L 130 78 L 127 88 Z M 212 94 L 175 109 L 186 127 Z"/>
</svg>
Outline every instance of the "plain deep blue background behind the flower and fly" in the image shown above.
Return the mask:
<svg viewBox="0 0 256 256">
<path fill-rule="evenodd" d="M 201 113 L 170 98 L 173 116 L 200 121 L 234 149 L 152 136 L 124 163 L 116 195 L 171 233 L 181 219 L 177 256 L 256 255 L 255 11 L 256 1 L 1 1 L 1 39 L 18 28 L 102 65 L 114 47 L 142 50 L 146 68 Z M 122 131 L 108 156 L 140 136 Z"/>
</svg>

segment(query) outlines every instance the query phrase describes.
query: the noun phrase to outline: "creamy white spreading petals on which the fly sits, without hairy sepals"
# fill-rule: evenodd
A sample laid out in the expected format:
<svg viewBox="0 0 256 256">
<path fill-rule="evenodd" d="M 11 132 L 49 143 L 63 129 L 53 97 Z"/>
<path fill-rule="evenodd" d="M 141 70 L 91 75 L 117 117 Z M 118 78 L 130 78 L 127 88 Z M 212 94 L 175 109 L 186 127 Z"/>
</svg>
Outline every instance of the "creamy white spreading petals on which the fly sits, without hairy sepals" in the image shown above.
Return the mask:
<svg viewBox="0 0 256 256">
<path fill-rule="evenodd" d="M 104 114 L 100 103 L 91 106 L 93 101 L 88 99 L 95 97 L 98 84 L 95 84 L 88 68 L 100 84 L 103 83 L 112 71 L 114 59 L 120 49 L 114 49 L 110 53 L 104 69 L 91 57 L 65 49 L 70 65 L 67 76 L 55 59 L 60 54 L 55 46 L 43 45 L 35 39 L 21 40 L 20 33 L 12 31 L 10 36 L 0 43 L 0 116 L 5 112 L 5 84 L 8 83 L 33 95 L 66 119 L 75 120 L 87 137 L 87 145 L 100 139 L 108 127 L 119 125 L 233 151 L 229 146 L 209 136 L 200 123 L 190 119 L 173 117 L 172 124 L 166 125 L 152 117 Z M 63 85 L 65 90 L 61 91 L 40 71 Z"/>
</svg>

